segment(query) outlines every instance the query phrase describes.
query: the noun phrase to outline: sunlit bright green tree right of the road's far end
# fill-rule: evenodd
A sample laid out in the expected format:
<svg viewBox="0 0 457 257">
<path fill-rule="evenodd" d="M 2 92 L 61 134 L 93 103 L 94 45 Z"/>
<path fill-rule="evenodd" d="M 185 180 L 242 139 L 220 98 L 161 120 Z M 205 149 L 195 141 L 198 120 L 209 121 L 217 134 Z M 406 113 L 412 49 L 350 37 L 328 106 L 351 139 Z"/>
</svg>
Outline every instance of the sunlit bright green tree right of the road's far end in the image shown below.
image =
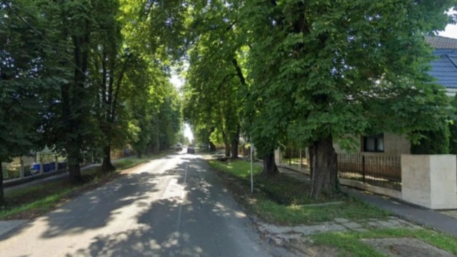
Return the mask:
<svg viewBox="0 0 457 257">
<path fill-rule="evenodd" d="M 247 82 L 241 67 L 243 38 L 236 29 L 236 8 L 226 1 L 196 4 L 191 28 L 190 69 L 184 115 L 196 128 L 220 133 L 226 156 L 238 157 L 241 107 Z M 193 113 L 193 114 L 192 114 Z M 214 128 L 214 129 L 213 129 Z M 215 143 L 215 142 L 212 142 Z"/>
</svg>

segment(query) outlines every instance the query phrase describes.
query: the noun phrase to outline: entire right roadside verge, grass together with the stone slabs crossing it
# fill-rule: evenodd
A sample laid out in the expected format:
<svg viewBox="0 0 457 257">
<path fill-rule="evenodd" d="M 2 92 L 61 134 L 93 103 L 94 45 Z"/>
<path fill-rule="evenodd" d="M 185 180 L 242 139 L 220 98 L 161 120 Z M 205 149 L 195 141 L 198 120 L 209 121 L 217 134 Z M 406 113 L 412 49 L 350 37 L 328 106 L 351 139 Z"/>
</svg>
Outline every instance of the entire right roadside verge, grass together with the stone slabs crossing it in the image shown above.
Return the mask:
<svg viewBox="0 0 457 257">
<path fill-rule="evenodd" d="M 250 163 L 211 160 L 209 164 L 219 171 L 246 211 L 261 221 L 276 224 L 269 228 L 268 224 L 261 225 L 262 231 L 269 230 L 273 238 L 281 236 L 276 233 L 283 233 L 278 231 L 286 231 L 282 236 L 291 236 L 290 246 L 305 254 L 335 256 L 333 251 L 336 251 L 336 256 L 396 256 L 398 252 L 400 256 L 457 256 L 457 238 L 396 220 L 388 211 L 356 198 L 343 195 L 311 199 L 308 182 L 299 182 L 281 173 L 273 178 L 263 177 L 260 163 L 255 166 L 255 190 L 251 194 Z M 398 224 L 381 226 L 392 222 Z M 321 230 L 332 224 L 345 231 Z M 308 228 L 304 228 L 306 233 L 300 236 L 303 226 Z"/>
</svg>

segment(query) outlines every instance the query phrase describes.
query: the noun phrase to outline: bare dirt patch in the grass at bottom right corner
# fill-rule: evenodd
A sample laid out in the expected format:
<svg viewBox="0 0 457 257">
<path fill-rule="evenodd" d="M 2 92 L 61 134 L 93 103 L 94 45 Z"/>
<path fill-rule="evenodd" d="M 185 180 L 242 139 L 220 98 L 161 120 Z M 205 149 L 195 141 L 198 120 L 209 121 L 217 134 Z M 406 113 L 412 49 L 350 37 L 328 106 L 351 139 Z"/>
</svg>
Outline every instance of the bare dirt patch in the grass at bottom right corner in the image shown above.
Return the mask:
<svg viewBox="0 0 457 257">
<path fill-rule="evenodd" d="M 398 257 L 428 257 L 428 256 L 443 256 L 453 257 L 452 253 L 444 251 L 443 249 L 431 246 L 416 238 L 376 238 L 376 239 L 362 239 L 376 250 L 383 252 L 387 256 Z"/>
</svg>

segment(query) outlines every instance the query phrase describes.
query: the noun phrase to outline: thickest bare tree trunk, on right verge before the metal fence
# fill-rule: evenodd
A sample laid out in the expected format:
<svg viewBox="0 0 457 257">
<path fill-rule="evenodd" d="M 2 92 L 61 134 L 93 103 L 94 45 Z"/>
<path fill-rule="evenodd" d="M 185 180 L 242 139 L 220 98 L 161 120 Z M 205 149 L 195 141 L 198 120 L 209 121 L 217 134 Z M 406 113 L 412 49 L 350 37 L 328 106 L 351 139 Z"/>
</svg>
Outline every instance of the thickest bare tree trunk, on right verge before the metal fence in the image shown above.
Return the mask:
<svg viewBox="0 0 457 257">
<path fill-rule="evenodd" d="M 337 157 L 331 136 L 315 141 L 309 153 L 311 161 L 311 198 L 335 196 L 340 192 Z"/>
</svg>

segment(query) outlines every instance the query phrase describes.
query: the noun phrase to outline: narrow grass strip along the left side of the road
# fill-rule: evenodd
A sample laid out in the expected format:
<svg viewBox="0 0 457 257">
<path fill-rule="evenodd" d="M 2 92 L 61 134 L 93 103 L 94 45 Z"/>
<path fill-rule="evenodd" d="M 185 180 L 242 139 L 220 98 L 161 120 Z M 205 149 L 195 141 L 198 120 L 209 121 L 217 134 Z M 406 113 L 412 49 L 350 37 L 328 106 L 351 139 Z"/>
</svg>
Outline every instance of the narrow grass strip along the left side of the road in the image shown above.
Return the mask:
<svg viewBox="0 0 457 257">
<path fill-rule="evenodd" d="M 88 168 L 81 171 L 84 183 L 79 185 L 71 184 L 64 178 L 59 181 L 44 182 L 26 188 L 6 191 L 6 205 L 0 206 L 0 220 L 36 218 L 56 208 L 60 203 L 116 178 L 119 176 L 119 172 L 126 168 L 146 163 L 154 158 L 161 158 L 166 154 L 160 153 L 152 157 L 124 158 L 113 161 L 116 171 L 111 173 L 101 173 L 98 166 Z"/>
</svg>

